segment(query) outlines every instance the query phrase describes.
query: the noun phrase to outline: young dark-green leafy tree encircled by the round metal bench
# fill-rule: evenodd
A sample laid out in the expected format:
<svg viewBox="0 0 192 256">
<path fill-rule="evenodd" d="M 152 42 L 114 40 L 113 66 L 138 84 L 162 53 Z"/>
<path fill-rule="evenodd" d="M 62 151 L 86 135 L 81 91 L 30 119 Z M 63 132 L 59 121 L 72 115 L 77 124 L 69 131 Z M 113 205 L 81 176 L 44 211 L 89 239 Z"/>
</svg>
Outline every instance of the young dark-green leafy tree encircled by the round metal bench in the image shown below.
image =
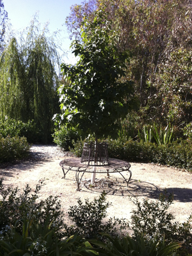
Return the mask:
<svg viewBox="0 0 192 256">
<path fill-rule="evenodd" d="M 133 83 L 123 81 L 127 52 L 117 51 L 118 37 L 111 34 L 104 5 L 95 11 L 94 21 L 84 18 L 82 43 L 73 41 L 73 53 L 79 57 L 75 66 L 62 64 L 66 84 L 60 86 L 62 119 L 68 126 L 98 137 L 116 136 L 117 120 L 136 107 Z"/>
</svg>

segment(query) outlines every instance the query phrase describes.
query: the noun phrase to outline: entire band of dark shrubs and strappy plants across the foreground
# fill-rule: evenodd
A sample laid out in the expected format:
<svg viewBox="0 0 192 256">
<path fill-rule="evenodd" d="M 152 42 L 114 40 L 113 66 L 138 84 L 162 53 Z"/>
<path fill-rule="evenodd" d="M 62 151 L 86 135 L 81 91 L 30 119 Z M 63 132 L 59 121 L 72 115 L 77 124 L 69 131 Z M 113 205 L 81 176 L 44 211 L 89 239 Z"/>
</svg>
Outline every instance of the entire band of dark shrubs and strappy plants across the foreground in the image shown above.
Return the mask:
<svg viewBox="0 0 192 256">
<path fill-rule="evenodd" d="M 0 255 L 175 255 L 184 239 L 180 255 L 191 250 L 190 219 L 182 224 L 173 223 L 174 217 L 167 213 L 172 197 L 167 200 L 161 195 L 158 201 L 144 200 L 142 204 L 135 200 L 137 209 L 131 222 L 127 222 L 133 230 L 130 238 L 116 232 L 117 224 L 126 226 L 124 221 L 105 222 L 110 204 L 106 203 L 104 192 L 93 202 L 85 200 L 83 204 L 79 199 L 78 206 L 71 206 L 69 216 L 74 223 L 67 226 L 57 197 L 38 200 L 42 183 L 35 191 L 27 185 L 19 194 L 17 188 L 4 189 L 0 180 Z M 112 236 L 98 233 L 105 231 Z M 86 241 L 85 237 L 95 240 Z"/>
</svg>

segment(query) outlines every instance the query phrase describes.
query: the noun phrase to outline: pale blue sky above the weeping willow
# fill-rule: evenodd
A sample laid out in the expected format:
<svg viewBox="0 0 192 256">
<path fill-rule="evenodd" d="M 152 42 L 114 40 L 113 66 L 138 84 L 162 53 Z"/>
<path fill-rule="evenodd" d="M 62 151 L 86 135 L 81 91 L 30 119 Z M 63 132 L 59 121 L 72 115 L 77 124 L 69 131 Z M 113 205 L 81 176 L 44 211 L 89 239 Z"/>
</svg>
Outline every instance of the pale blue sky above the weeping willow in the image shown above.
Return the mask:
<svg viewBox="0 0 192 256">
<path fill-rule="evenodd" d="M 69 15 L 71 5 L 81 4 L 82 0 L 3 0 L 3 2 L 14 30 L 27 27 L 33 15 L 39 12 L 40 23 L 49 21 L 50 31 L 62 30 L 63 49 L 69 50 L 71 41 L 68 39 L 65 18 Z M 75 63 L 73 55 L 68 54 L 68 58 L 65 58 L 65 62 Z"/>
</svg>

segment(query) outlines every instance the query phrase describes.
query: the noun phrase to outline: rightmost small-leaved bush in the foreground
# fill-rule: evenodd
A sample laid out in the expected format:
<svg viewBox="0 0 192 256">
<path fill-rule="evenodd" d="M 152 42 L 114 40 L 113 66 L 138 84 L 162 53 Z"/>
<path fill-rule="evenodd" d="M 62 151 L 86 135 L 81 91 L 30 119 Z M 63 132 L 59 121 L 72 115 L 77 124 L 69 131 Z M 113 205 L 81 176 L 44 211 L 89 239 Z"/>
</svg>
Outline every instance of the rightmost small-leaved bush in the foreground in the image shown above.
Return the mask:
<svg viewBox="0 0 192 256">
<path fill-rule="evenodd" d="M 132 215 L 132 230 L 133 238 L 143 236 L 145 241 L 157 239 L 165 244 L 170 242 L 180 242 L 183 246 L 180 255 L 186 255 L 187 252 L 192 252 L 192 215 L 187 222 L 174 222 L 175 219 L 172 213 L 167 213 L 167 209 L 173 203 L 171 194 L 167 196 L 160 194 L 158 201 L 149 201 L 144 199 L 140 203 L 137 199 L 133 200 L 137 209 L 133 210 Z"/>
</svg>

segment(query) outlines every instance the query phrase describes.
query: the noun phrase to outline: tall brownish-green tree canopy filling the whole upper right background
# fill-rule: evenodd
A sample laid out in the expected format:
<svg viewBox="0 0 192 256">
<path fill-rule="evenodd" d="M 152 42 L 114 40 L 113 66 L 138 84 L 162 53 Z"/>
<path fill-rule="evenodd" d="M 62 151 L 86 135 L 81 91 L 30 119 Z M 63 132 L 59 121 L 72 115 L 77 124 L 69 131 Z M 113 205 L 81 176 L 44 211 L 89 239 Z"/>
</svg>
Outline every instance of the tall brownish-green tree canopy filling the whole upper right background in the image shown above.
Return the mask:
<svg viewBox="0 0 192 256">
<path fill-rule="evenodd" d="M 162 124 L 171 121 L 178 127 L 192 121 L 191 1 L 82 2 L 72 7 L 66 19 L 70 35 L 79 39 L 77 31 L 81 29 L 82 19 L 87 17 L 92 23 L 94 11 L 91 9 L 103 4 L 107 10 L 106 20 L 112 20 L 111 33 L 119 37 L 117 49 L 129 50 L 132 55 L 126 79 L 135 82 L 140 121 Z"/>
</svg>

